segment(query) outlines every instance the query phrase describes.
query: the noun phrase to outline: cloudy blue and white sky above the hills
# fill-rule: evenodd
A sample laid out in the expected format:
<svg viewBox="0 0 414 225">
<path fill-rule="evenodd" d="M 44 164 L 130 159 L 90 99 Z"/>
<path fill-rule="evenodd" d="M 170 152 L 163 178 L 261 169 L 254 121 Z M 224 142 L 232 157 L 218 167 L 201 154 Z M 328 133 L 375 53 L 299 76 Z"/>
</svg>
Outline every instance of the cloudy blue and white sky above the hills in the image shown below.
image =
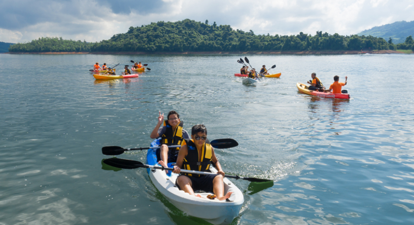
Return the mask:
<svg viewBox="0 0 414 225">
<path fill-rule="evenodd" d="M 0 0 L 0 41 L 109 39 L 158 21 L 191 19 L 256 35 L 354 35 L 414 20 L 414 0 Z"/>
</svg>

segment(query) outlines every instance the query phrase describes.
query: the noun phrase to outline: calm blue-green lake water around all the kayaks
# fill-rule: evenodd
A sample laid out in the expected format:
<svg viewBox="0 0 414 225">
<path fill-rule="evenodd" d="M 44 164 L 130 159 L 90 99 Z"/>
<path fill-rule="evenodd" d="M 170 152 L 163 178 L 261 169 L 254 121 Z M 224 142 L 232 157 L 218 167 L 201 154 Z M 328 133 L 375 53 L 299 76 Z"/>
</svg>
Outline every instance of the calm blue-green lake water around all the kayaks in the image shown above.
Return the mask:
<svg viewBox="0 0 414 225">
<path fill-rule="evenodd" d="M 204 123 L 244 205 L 233 224 L 414 223 L 414 55 L 247 55 L 276 64 L 255 86 L 235 77 L 245 55 L 0 54 L 0 225 L 208 224 L 179 211 L 145 169 L 105 170 L 104 146 L 149 147 L 158 112 Z M 93 64 L 130 60 L 138 78 L 98 81 Z M 307 96 L 348 76 L 350 100 Z M 145 162 L 146 151 L 119 158 Z M 262 189 L 262 190 L 260 190 Z"/>
</svg>

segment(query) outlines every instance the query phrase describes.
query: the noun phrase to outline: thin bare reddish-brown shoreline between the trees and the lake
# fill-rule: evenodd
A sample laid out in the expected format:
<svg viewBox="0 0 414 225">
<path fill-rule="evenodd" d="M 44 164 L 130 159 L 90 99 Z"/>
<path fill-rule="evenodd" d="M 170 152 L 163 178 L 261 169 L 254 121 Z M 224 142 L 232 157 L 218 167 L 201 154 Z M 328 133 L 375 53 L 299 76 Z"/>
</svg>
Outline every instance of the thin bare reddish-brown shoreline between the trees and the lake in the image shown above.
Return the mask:
<svg viewBox="0 0 414 225">
<path fill-rule="evenodd" d="M 358 54 L 413 54 L 396 50 L 378 51 L 343 51 L 343 50 L 321 50 L 321 51 L 205 51 L 205 52 L 4 52 L 2 54 L 40 54 L 40 55 L 63 55 L 63 54 L 91 54 L 91 55 L 358 55 Z"/>
</svg>

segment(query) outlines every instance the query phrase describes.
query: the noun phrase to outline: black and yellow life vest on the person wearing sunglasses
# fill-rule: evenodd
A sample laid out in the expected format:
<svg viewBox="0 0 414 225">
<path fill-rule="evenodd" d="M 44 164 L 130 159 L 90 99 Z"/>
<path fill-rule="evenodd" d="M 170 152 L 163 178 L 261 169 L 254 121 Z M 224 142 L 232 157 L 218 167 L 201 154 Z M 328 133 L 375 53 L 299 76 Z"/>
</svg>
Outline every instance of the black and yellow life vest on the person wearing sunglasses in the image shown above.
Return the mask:
<svg viewBox="0 0 414 225">
<path fill-rule="evenodd" d="M 207 141 L 206 141 L 207 142 Z M 184 157 L 181 169 L 206 171 L 210 168 L 211 159 L 213 158 L 213 148 L 210 144 L 205 143 L 201 150 L 201 157 L 199 151 L 193 140 L 185 139 L 187 144 L 187 155 Z M 200 160 L 199 160 L 200 159 Z M 185 173 L 184 173 L 185 174 Z M 185 174 L 187 176 L 200 177 L 198 174 Z"/>
</svg>

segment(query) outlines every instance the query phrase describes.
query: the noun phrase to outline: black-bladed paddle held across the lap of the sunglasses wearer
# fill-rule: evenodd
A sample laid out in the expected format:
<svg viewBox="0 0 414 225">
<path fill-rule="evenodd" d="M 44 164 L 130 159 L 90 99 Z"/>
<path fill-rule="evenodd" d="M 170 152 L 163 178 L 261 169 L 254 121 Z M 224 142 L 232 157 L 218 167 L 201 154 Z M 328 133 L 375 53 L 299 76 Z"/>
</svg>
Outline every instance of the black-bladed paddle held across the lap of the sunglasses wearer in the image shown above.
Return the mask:
<svg viewBox="0 0 414 225">
<path fill-rule="evenodd" d="M 138 161 L 122 159 L 122 158 L 108 158 L 108 159 L 104 160 L 104 163 L 109 165 L 109 166 L 113 166 L 113 167 L 117 167 L 117 168 L 121 168 L 121 169 L 136 169 L 136 168 L 142 167 L 142 168 L 150 168 L 150 169 L 158 169 L 158 170 L 171 170 L 171 171 L 174 170 L 174 168 L 163 167 L 163 166 L 150 166 L 150 165 L 142 164 L 141 162 L 138 162 Z M 199 175 L 214 174 L 214 173 L 194 171 L 194 170 L 181 170 L 181 172 L 182 173 L 190 173 L 190 174 L 199 174 Z M 251 182 L 269 182 L 269 181 L 272 181 L 272 180 L 267 180 L 267 179 L 254 178 L 254 177 L 241 177 L 241 176 L 238 176 L 238 175 L 237 176 L 224 175 L 224 177 L 242 179 L 242 180 L 251 181 Z"/>
</svg>

